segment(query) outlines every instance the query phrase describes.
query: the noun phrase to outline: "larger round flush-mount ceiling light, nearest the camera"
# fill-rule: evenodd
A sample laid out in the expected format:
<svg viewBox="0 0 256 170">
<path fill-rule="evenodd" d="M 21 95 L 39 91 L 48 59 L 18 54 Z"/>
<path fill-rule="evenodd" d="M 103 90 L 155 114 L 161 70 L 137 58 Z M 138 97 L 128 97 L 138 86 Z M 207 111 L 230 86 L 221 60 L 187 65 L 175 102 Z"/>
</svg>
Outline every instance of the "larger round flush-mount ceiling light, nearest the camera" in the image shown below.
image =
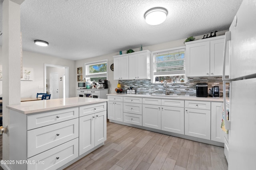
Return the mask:
<svg viewBox="0 0 256 170">
<path fill-rule="evenodd" d="M 168 12 L 165 8 L 151 8 L 145 12 L 144 18 L 149 25 L 158 25 L 166 20 L 167 14 Z"/>
</svg>

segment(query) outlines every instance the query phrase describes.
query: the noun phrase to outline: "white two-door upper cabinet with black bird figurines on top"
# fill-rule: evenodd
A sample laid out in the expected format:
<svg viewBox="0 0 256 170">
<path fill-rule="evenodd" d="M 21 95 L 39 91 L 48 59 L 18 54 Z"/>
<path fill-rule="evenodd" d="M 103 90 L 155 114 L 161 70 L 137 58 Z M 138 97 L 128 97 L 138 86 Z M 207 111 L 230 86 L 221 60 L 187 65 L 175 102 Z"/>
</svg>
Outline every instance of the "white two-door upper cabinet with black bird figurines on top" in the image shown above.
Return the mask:
<svg viewBox="0 0 256 170">
<path fill-rule="evenodd" d="M 186 76 L 222 76 L 224 36 L 186 44 Z M 226 62 L 226 74 L 228 75 Z"/>
</svg>

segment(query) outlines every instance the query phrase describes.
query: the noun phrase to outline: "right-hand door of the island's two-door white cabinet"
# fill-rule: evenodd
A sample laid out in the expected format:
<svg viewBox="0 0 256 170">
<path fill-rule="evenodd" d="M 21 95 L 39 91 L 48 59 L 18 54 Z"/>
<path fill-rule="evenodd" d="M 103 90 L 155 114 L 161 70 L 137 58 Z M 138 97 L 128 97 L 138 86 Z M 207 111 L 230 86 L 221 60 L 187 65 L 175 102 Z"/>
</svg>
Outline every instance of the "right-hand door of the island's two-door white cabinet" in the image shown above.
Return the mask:
<svg viewBox="0 0 256 170">
<path fill-rule="evenodd" d="M 95 146 L 107 140 L 107 111 L 95 113 Z"/>
</svg>

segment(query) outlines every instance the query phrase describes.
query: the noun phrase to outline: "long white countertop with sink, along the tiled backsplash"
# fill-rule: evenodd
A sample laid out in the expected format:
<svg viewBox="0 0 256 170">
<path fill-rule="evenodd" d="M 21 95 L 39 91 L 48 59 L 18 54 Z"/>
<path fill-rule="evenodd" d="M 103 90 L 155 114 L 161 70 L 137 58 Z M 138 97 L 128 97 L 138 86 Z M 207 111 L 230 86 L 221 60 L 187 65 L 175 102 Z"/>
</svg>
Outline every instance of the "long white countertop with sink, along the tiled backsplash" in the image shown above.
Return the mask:
<svg viewBox="0 0 256 170">
<path fill-rule="evenodd" d="M 199 98 L 196 96 L 182 96 L 182 95 L 146 95 L 146 94 L 125 94 L 125 93 L 113 93 L 107 94 L 107 96 L 123 96 L 123 97 L 141 97 L 141 98 L 160 98 L 160 99 L 174 99 L 174 100 L 197 100 L 197 101 L 209 101 L 209 102 L 223 102 L 222 97 L 207 97 Z M 228 100 L 228 98 L 227 98 Z"/>
</svg>

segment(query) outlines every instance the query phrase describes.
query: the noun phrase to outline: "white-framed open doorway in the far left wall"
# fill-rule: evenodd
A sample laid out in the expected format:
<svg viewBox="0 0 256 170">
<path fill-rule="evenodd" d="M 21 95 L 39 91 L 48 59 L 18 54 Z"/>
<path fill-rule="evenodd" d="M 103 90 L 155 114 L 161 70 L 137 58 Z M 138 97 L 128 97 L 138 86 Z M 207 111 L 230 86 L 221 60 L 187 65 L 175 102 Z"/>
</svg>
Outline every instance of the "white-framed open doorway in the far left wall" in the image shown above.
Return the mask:
<svg viewBox="0 0 256 170">
<path fill-rule="evenodd" d="M 54 83 L 50 78 L 53 75 L 55 79 Z M 52 86 L 54 86 L 53 90 L 55 91 L 51 90 Z M 51 99 L 69 97 L 69 67 L 68 66 L 44 64 L 44 92 L 52 94 Z"/>
</svg>

